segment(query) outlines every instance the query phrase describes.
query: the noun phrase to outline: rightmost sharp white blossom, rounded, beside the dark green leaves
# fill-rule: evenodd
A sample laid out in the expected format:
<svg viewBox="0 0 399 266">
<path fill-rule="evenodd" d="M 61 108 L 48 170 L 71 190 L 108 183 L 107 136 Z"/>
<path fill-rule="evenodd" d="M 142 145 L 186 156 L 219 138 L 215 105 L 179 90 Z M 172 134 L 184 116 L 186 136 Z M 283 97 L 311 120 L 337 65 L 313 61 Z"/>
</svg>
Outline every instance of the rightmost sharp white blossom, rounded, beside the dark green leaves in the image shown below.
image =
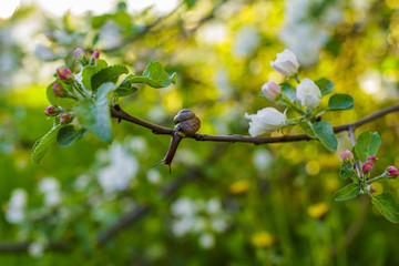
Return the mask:
<svg viewBox="0 0 399 266">
<path fill-rule="evenodd" d="M 321 100 L 320 89 L 307 78 L 304 78 L 298 84 L 296 95 L 303 105 L 310 109 L 317 108 Z"/>
</svg>

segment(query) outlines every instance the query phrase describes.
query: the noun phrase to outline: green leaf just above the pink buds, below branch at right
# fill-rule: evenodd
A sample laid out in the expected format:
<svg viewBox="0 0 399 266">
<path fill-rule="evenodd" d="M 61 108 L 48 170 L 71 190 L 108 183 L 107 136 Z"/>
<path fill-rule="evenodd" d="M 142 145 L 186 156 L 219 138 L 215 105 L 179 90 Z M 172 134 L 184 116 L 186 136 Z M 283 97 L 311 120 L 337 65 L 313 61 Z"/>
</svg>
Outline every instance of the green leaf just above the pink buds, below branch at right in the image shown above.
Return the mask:
<svg viewBox="0 0 399 266">
<path fill-rule="evenodd" d="M 377 132 L 371 133 L 370 131 L 362 132 L 356 141 L 352 149 L 355 158 L 366 162 L 368 156 L 376 156 L 381 140 Z"/>
</svg>

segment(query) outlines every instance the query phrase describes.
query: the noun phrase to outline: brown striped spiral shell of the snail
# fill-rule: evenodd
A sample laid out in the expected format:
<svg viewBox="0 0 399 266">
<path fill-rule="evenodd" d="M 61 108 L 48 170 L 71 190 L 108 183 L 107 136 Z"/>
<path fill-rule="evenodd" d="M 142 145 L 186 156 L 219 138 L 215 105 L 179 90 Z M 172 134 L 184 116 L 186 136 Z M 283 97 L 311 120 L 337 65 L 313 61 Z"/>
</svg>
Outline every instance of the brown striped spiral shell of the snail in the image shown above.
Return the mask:
<svg viewBox="0 0 399 266">
<path fill-rule="evenodd" d="M 192 136 L 201 127 L 201 120 L 188 109 L 182 109 L 174 117 L 175 131 L 181 136 Z"/>
</svg>

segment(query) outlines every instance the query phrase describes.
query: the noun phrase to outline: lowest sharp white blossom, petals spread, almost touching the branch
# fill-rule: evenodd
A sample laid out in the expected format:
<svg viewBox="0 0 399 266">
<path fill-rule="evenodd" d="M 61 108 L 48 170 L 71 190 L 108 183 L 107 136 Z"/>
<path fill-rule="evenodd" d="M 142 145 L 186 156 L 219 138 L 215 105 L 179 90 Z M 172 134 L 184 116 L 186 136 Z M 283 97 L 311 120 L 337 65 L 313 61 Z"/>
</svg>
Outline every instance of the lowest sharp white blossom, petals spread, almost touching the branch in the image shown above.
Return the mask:
<svg viewBox="0 0 399 266">
<path fill-rule="evenodd" d="M 245 117 L 250 120 L 249 134 L 252 136 L 262 135 L 266 132 L 273 132 L 285 124 L 285 116 L 274 108 L 265 108 L 257 111 L 256 114 L 245 113 Z"/>
</svg>

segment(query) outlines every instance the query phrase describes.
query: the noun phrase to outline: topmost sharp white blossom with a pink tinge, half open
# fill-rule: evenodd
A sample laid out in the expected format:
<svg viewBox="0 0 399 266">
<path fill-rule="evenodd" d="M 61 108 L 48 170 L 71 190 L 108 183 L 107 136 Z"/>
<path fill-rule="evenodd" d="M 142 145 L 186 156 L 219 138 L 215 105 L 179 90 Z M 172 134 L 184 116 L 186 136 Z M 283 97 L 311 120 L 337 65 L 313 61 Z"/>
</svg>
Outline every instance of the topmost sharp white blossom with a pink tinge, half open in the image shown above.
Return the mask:
<svg viewBox="0 0 399 266">
<path fill-rule="evenodd" d="M 276 61 L 270 62 L 272 68 L 285 76 L 294 76 L 298 73 L 299 63 L 295 53 L 285 49 L 282 53 L 277 53 Z"/>
</svg>

